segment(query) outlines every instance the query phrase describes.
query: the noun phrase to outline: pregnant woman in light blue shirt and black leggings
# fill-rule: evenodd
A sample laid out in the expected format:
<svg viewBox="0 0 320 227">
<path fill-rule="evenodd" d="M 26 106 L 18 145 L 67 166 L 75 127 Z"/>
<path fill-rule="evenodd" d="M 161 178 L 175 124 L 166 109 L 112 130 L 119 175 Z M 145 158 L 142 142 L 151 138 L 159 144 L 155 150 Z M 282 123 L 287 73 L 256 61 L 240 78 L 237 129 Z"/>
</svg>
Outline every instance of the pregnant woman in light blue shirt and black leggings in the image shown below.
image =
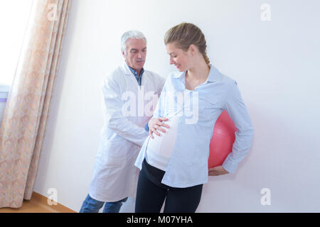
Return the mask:
<svg viewBox="0 0 320 227">
<path fill-rule="evenodd" d="M 206 40 L 192 23 L 166 32 L 170 64 L 178 73 L 166 79 L 149 121 L 135 165 L 141 170 L 136 212 L 195 212 L 208 175 L 235 173 L 252 145 L 253 128 L 238 84 L 221 74 L 206 55 Z M 215 121 L 227 111 L 238 129 L 223 165 L 208 171 Z"/>
</svg>

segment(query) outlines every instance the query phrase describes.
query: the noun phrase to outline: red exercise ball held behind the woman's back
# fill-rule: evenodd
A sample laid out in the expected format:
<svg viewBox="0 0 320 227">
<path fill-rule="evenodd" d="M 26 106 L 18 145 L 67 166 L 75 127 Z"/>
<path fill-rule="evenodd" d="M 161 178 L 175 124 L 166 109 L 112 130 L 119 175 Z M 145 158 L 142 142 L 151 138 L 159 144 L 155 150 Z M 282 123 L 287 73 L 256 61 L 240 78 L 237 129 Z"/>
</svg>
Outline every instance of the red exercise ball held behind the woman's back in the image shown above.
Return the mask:
<svg viewBox="0 0 320 227">
<path fill-rule="evenodd" d="M 235 124 L 229 114 L 223 111 L 215 122 L 213 136 L 210 141 L 209 168 L 223 164 L 225 158 L 233 149 L 236 131 L 237 128 L 235 128 Z"/>
</svg>

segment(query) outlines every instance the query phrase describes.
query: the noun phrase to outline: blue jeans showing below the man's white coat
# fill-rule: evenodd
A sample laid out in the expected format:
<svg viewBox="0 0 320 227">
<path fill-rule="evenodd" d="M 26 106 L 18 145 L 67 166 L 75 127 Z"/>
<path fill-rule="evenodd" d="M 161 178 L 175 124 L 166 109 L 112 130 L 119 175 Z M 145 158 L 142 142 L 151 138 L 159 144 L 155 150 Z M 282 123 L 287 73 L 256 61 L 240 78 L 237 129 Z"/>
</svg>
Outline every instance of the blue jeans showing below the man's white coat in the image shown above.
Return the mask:
<svg viewBox="0 0 320 227">
<path fill-rule="evenodd" d="M 103 204 L 105 204 L 105 208 L 102 211 L 103 213 L 119 213 L 122 203 L 127 201 L 127 199 L 128 197 L 119 201 L 104 202 L 92 199 L 91 196 L 87 194 L 87 198 L 83 201 L 79 213 L 98 213 Z"/>
</svg>

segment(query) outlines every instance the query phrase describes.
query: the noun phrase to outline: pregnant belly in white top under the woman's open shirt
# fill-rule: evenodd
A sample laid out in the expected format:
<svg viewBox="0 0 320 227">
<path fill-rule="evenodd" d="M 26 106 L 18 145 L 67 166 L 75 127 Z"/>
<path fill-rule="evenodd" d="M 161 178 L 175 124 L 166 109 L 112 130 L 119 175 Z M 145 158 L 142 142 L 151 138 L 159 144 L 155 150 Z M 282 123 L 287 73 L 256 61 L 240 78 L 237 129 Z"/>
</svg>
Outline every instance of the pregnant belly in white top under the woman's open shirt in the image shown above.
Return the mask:
<svg viewBox="0 0 320 227">
<path fill-rule="evenodd" d="M 174 151 L 174 145 L 176 144 L 176 134 L 178 128 L 178 118 L 173 116 L 168 121 L 164 121 L 170 128 L 165 128 L 166 133 L 159 131 L 160 135 L 154 135 L 154 139 L 149 138 L 147 146 L 148 152 L 158 153 L 164 157 L 171 157 Z M 164 127 L 163 127 L 164 128 Z"/>
</svg>

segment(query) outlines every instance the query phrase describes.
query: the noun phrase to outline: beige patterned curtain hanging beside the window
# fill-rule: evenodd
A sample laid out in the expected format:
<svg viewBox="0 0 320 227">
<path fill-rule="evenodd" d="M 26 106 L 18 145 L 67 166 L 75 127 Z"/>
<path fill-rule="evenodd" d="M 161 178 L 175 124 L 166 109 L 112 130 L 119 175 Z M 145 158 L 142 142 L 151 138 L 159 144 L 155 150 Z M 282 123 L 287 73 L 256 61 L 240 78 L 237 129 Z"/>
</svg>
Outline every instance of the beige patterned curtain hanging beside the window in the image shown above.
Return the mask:
<svg viewBox="0 0 320 227">
<path fill-rule="evenodd" d="M 31 199 L 70 1 L 33 1 L 0 128 L 0 207 Z"/>
</svg>

